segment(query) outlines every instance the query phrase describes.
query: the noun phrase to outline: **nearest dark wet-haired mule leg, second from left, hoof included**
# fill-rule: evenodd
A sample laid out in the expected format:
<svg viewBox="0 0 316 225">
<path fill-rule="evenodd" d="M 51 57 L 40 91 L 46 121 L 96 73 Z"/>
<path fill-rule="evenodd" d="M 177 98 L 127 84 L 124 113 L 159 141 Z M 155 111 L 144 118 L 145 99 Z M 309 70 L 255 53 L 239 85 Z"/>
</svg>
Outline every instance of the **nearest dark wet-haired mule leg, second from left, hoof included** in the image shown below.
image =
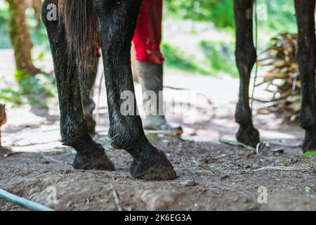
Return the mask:
<svg viewBox="0 0 316 225">
<path fill-rule="evenodd" d="M 148 180 L 176 179 L 176 172 L 161 150 L 154 148 L 143 131 L 132 101 L 129 115 L 121 113 L 121 94 L 135 91 L 131 72 L 131 41 L 142 0 L 94 0 L 102 42 L 105 81 L 110 113 L 112 146 L 127 150 L 133 157 L 131 174 Z M 127 91 L 127 92 L 126 92 Z"/>
</svg>

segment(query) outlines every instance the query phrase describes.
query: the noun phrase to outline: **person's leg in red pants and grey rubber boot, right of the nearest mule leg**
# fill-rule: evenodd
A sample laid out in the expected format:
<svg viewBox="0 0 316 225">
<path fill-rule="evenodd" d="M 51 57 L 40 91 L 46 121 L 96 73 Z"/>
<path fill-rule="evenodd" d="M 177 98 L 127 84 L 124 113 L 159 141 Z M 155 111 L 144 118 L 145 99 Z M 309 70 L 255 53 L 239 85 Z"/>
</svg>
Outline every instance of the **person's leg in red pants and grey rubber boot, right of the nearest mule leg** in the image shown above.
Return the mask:
<svg viewBox="0 0 316 225">
<path fill-rule="evenodd" d="M 143 86 L 143 93 L 154 91 L 157 96 L 157 104 L 150 108 L 144 107 L 146 119 L 144 129 L 148 130 L 173 130 L 182 134 L 181 127 L 171 127 L 164 115 L 163 96 L 163 64 L 164 56 L 160 49 L 162 42 L 162 5 L 163 0 L 144 0 L 140 9 L 138 24 L 133 37 L 136 50 L 136 68 L 138 82 Z M 145 96 L 144 96 L 145 97 Z M 144 98 L 144 105 L 147 99 Z M 156 105 L 156 106 L 154 106 Z M 159 108 L 159 107 L 161 108 Z"/>
</svg>

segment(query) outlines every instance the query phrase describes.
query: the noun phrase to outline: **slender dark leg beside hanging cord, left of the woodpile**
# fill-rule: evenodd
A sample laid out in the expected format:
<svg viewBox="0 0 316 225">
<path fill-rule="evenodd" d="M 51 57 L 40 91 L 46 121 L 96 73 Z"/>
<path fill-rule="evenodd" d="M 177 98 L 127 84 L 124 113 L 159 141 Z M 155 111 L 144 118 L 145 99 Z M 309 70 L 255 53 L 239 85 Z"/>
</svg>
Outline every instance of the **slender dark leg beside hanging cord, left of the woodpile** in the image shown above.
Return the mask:
<svg viewBox="0 0 316 225">
<path fill-rule="evenodd" d="M 256 63 L 256 49 L 253 39 L 254 0 L 234 0 L 236 23 L 236 62 L 240 77 L 239 101 L 236 108 L 236 122 L 240 125 L 237 141 L 256 146 L 259 132 L 254 128 L 249 106 L 249 80 Z"/>
</svg>

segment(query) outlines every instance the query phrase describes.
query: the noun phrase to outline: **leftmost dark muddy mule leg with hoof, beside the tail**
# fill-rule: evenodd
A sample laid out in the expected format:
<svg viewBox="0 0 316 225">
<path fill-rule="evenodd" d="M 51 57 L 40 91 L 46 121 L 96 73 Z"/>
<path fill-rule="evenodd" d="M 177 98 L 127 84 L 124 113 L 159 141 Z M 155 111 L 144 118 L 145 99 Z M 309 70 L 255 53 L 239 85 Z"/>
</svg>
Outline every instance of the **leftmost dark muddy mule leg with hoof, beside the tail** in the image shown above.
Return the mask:
<svg viewBox="0 0 316 225">
<path fill-rule="evenodd" d="M 113 170 L 114 166 L 105 155 L 103 146 L 93 141 L 88 134 L 81 105 L 77 63 L 75 60 L 72 62 L 67 60 L 70 57 L 67 56 L 67 41 L 62 25 L 59 26 L 58 21 L 49 21 L 47 19 L 47 6 L 52 2 L 50 0 L 44 1 L 42 18 L 46 25 L 53 54 L 60 101 L 62 143 L 77 150 L 73 164 L 74 169 Z"/>
</svg>

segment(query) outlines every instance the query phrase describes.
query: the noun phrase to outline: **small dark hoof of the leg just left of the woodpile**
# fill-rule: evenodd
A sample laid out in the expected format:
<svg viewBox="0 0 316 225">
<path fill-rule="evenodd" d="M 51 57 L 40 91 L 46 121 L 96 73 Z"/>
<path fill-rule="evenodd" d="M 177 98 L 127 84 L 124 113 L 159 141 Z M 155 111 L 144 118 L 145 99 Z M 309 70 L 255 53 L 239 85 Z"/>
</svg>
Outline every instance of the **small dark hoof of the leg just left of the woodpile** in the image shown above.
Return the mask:
<svg viewBox="0 0 316 225">
<path fill-rule="evenodd" d="M 236 134 L 237 141 L 246 144 L 247 146 L 256 147 L 260 142 L 260 134 L 254 127 L 240 127 Z"/>
</svg>

